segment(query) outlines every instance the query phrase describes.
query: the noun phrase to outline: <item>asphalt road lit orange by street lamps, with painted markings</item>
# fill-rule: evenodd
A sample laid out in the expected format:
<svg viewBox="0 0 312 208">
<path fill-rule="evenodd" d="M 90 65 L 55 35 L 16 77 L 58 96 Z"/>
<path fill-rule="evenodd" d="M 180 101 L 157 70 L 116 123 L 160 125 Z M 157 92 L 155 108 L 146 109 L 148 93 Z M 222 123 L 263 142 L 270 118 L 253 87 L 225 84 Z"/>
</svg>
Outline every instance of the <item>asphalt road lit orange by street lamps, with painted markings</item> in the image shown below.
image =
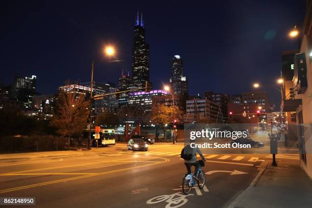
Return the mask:
<svg viewBox="0 0 312 208">
<path fill-rule="evenodd" d="M 182 147 L 154 144 L 147 152 L 133 152 L 117 144 L 81 156 L 2 160 L 0 197 L 36 197 L 36 207 L 224 207 L 270 159 L 205 154 L 205 187 L 186 196 L 179 193 L 186 173 Z"/>
</svg>

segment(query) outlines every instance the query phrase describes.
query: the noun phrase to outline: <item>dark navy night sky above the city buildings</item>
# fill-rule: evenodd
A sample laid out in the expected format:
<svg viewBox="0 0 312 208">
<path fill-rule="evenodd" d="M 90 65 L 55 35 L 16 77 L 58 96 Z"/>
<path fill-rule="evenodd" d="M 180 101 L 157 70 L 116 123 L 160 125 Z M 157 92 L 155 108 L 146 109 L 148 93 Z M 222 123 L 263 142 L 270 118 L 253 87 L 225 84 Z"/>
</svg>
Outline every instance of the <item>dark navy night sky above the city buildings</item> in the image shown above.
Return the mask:
<svg viewBox="0 0 312 208">
<path fill-rule="evenodd" d="M 259 82 L 271 106 L 281 69 L 281 51 L 297 47 L 288 38 L 303 22 L 305 1 L 8 1 L 1 9 L 1 79 L 37 75 L 40 93 L 56 92 L 66 80 L 118 83 L 131 71 L 133 28 L 143 13 L 150 45 L 154 89 L 170 79 L 171 59 L 184 59 L 189 94 L 211 90 L 241 93 Z M 193 4 L 191 4 L 193 3 Z M 104 45 L 117 56 L 108 62 Z"/>
</svg>

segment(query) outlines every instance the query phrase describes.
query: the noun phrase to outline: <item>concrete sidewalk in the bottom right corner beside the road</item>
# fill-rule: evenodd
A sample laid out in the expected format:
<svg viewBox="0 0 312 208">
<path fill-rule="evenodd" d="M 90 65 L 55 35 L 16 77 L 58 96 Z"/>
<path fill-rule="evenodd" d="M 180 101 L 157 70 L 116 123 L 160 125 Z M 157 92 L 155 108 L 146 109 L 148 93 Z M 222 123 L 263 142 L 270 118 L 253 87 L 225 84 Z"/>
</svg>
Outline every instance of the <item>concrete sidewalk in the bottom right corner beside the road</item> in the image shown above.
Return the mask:
<svg viewBox="0 0 312 208">
<path fill-rule="evenodd" d="M 279 161 L 267 166 L 254 186 L 248 187 L 228 207 L 311 207 L 312 179 L 298 161 Z"/>
</svg>

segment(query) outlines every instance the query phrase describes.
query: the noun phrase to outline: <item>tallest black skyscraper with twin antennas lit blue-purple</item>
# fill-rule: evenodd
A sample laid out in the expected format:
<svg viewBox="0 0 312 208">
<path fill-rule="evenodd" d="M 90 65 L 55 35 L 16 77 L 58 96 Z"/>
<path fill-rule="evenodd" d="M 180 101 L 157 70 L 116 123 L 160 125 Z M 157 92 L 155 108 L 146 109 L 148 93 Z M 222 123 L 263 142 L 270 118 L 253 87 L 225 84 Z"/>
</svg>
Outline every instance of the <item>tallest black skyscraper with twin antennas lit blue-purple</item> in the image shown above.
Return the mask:
<svg viewBox="0 0 312 208">
<path fill-rule="evenodd" d="M 149 45 L 145 42 L 145 29 L 143 16 L 139 21 L 139 12 L 134 27 L 132 54 L 132 85 L 131 88 L 144 88 L 145 82 L 149 82 Z"/>
</svg>

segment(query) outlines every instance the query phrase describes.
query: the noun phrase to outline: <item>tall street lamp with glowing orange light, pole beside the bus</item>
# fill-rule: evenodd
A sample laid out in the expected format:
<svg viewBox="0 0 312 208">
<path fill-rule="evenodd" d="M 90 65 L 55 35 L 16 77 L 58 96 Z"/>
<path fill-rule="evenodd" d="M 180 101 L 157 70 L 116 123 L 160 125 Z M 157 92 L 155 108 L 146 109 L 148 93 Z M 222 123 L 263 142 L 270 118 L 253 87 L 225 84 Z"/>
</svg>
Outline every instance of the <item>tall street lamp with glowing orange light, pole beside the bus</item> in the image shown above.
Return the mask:
<svg viewBox="0 0 312 208">
<path fill-rule="evenodd" d="M 106 46 L 104 49 L 104 53 L 106 56 L 113 56 L 115 54 L 115 49 L 113 46 Z M 93 101 L 93 70 L 94 70 L 94 60 L 92 59 L 91 64 L 91 87 L 90 87 L 90 113 L 89 113 L 89 139 L 88 139 L 88 147 L 87 149 L 91 149 L 91 127 L 92 127 L 92 101 Z"/>
</svg>

